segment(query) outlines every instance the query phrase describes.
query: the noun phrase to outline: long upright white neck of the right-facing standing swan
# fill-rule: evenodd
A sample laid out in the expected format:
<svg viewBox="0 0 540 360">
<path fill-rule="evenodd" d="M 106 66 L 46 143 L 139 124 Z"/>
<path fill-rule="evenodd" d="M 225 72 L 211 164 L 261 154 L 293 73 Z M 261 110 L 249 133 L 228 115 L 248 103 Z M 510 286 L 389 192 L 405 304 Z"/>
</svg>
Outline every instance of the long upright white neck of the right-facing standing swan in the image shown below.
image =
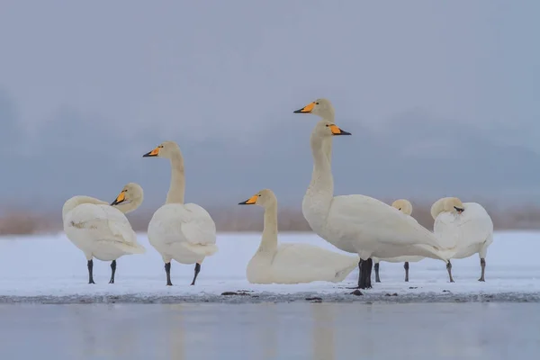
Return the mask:
<svg viewBox="0 0 540 360">
<path fill-rule="evenodd" d="M 320 211 L 329 211 L 330 202 L 334 197 L 331 151 L 331 137 L 322 138 L 315 133 L 311 134 L 313 172 L 305 197 L 311 198 L 311 206 L 320 209 Z"/>
</svg>

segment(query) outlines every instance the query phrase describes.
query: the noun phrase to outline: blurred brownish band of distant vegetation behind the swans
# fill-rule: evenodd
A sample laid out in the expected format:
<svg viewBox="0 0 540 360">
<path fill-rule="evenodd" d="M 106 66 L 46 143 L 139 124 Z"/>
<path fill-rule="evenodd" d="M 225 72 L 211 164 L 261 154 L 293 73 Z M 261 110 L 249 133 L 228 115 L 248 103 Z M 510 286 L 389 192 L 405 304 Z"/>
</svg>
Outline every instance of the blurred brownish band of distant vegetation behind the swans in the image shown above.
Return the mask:
<svg viewBox="0 0 540 360">
<path fill-rule="evenodd" d="M 392 201 L 385 201 L 392 203 Z M 433 229 L 429 213 L 431 203 L 412 202 L 412 216 L 428 229 Z M 540 229 L 540 207 L 536 205 L 502 204 L 482 205 L 490 213 L 495 229 Z M 263 229 L 263 209 L 258 206 L 236 206 L 208 208 L 218 231 L 260 231 Z M 131 226 L 136 231 L 146 231 L 152 211 L 134 211 L 128 214 Z M 282 206 L 278 213 L 280 231 L 311 231 L 302 215 L 302 209 Z M 50 233 L 62 230 L 61 214 L 40 213 L 23 209 L 0 213 L 0 235 Z"/>
</svg>

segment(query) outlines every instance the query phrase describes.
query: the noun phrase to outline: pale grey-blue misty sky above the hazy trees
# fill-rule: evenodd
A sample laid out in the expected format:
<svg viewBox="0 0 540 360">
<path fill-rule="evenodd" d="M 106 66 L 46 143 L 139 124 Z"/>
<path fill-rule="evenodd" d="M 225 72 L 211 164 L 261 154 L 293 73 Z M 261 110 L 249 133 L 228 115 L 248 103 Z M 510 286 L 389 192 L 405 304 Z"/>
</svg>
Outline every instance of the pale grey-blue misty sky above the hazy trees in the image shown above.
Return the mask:
<svg viewBox="0 0 540 360">
<path fill-rule="evenodd" d="M 323 96 L 349 128 L 422 109 L 540 152 L 538 14 L 535 0 L 4 0 L 0 93 L 25 157 L 66 113 L 88 122 L 74 142 L 100 128 L 136 160 L 165 139 L 257 146 L 274 124 L 314 124 L 293 110 Z"/>
</svg>

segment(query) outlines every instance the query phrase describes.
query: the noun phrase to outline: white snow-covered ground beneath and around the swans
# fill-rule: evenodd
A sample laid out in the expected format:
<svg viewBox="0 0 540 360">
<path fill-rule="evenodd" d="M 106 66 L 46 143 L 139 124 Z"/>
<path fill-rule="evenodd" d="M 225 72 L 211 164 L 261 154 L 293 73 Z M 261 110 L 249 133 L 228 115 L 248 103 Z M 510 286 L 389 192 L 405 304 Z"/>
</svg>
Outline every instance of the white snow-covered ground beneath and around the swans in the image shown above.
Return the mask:
<svg viewBox="0 0 540 360">
<path fill-rule="evenodd" d="M 347 289 L 356 284 L 357 270 L 340 284 L 247 283 L 247 262 L 260 234 L 246 233 L 219 235 L 220 251 L 202 263 L 195 286 L 189 285 L 193 266 L 173 262 L 175 286 L 167 287 L 161 257 L 146 234 L 139 234 L 139 241 L 147 254 L 121 257 L 116 284 L 108 284 L 110 263 L 94 260 L 96 284 L 90 285 L 83 253 L 63 234 L 0 238 L 0 302 L 540 302 L 538 232 L 496 233 L 486 259 L 486 283 L 477 281 L 478 256 L 452 262 L 455 284 L 448 283 L 441 261 L 410 263 L 409 283 L 403 281 L 402 264 L 381 263 L 383 283 L 374 283 L 373 277 L 374 288 L 362 296 Z M 339 251 L 313 234 L 281 233 L 280 241 Z"/>
</svg>

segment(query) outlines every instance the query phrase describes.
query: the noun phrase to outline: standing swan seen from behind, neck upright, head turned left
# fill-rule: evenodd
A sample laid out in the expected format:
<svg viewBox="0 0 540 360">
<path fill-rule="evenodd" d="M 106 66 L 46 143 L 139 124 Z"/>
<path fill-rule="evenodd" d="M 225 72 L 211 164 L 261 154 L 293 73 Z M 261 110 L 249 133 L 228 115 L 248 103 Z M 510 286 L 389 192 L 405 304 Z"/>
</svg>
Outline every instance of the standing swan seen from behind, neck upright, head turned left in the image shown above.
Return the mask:
<svg viewBox="0 0 540 360">
<path fill-rule="evenodd" d="M 148 241 L 163 257 L 167 285 L 172 285 L 172 259 L 180 264 L 195 264 L 194 285 L 204 257 L 218 251 L 216 225 L 201 206 L 184 204 L 184 157 L 175 141 L 165 141 L 143 157 L 164 157 L 171 162 L 171 184 L 166 202 L 154 212 L 148 224 Z"/>
</svg>

